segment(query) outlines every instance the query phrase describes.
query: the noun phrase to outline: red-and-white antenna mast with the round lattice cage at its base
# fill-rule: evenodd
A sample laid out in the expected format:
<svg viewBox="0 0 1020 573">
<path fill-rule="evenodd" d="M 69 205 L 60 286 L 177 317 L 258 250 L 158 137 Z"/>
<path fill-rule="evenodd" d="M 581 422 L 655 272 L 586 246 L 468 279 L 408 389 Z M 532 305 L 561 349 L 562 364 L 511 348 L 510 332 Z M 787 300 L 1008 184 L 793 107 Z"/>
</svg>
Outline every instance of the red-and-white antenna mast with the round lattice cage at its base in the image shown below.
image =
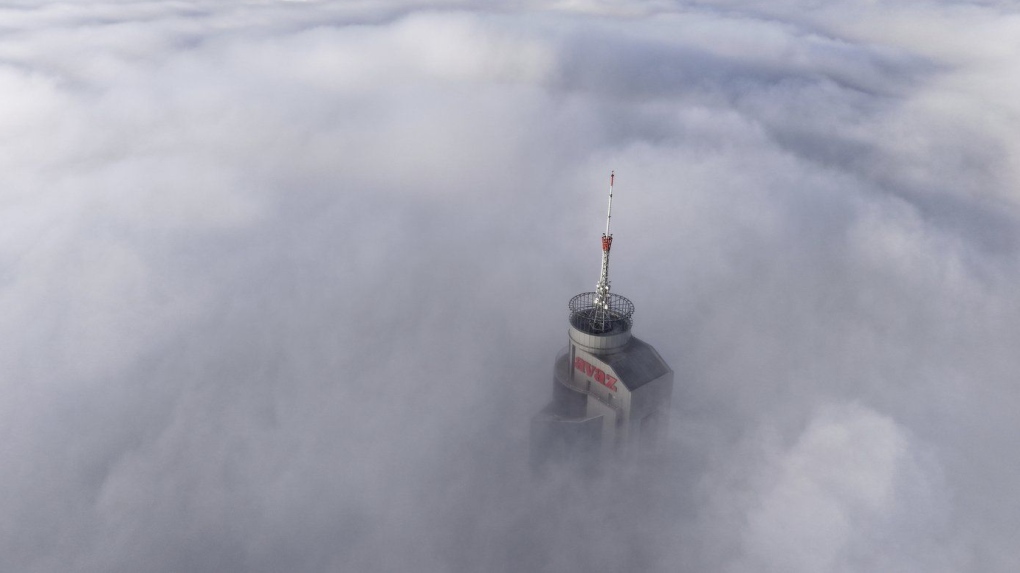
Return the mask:
<svg viewBox="0 0 1020 573">
<path fill-rule="evenodd" d="M 609 173 L 609 209 L 606 212 L 606 232 L 602 235 L 602 273 L 594 293 L 581 293 L 570 299 L 570 323 L 593 334 L 628 330 L 634 305 L 625 297 L 609 292 L 609 250 L 613 235 L 609 223 L 613 217 L 613 181 L 616 172 Z"/>
</svg>

